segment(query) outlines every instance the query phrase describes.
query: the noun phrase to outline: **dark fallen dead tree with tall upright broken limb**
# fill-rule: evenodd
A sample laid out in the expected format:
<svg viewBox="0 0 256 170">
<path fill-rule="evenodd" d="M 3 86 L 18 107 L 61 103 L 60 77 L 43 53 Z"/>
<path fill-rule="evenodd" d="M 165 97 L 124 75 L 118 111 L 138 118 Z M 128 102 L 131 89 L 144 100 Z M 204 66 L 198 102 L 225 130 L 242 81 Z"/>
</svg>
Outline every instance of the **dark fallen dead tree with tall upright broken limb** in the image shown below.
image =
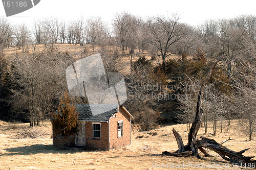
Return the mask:
<svg viewBox="0 0 256 170">
<path fill-rule="evenodd" d="M 207 76 L 199 90 L 198 94 L 198 101 L 197 101 L 197 109 L 196 109 L 196 116 L 194 118 L 194 122 L 191 125 L 191 128 L 189 130 L 188 134 L 188 143 L 186 145 L 183 144 L 182 138 L 180 134 L 173 129 L 174 136 L 176 138 L 176 141 L 178 143 L 178 150 L 175 153 L 170 153 L 167 151 L 162 152 L 164 155 L 169 156 L 176 156 L 176 157 L 188 157 L 188 156 L 197 156 L 198 158 L 201 158 L 201 156 L 198 153 L 198 150 L 200 150 L 205 156 L 210 156 L 208 152 L 205 149 L 212 150 L 216 153 L 218 153 L 223 159 L 239 163 L 241 165 L 248 164 L 248 163 L 255 163 L 256 160 L 253 160 L 252 158 L 254 156 L 243 156 L 242 154 L 249 149 L 242 150 L 240 152 L 232 151 L 226 147 L 224 147 L 222 143 L 216 142 L 214 139 L 208 139 L 206 137 L 201 136 L 201 139 L 197 138 L 198 130 L 200 129 L 200 125 L 202 122 L 202 116 L 203 116 L 203 110 L 202 110 L 202 101 L 203 101 L 203 94 L 205 90 L 205 86 L 211 76 L 212 69 L 217 65 L 217 63 L 221 60 L 222 57 L 220 57 L 207 72 Z M 227 139 L 227 140 L 230 140 Z M 226 140 L 226 141 L 227 141 Z"/>
</svg>

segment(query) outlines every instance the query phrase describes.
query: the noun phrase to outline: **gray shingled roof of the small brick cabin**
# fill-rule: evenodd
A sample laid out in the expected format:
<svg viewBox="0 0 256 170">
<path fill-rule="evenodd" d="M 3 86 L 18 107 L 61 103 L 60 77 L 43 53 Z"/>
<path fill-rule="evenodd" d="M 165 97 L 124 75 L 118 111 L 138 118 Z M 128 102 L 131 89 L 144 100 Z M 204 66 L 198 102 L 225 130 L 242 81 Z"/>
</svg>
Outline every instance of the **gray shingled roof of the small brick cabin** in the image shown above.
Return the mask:
<svg viewBox="0 0 256 170">
<path fill-rule="evenodd" d="M 117 113 L 120 109 L 116 105 L 91 105 L 96 108 L 101 114 L 92 115 L 89 104 L 76 104 L 76 111 L 78 114 L 78 120 L 92 121 L 92 122 L 106 122 L 109 118 Z M 113 109 L 114 108 L 114 109 Z M 104 112 L 104 110 L 109 110 Z"/>
</svg>

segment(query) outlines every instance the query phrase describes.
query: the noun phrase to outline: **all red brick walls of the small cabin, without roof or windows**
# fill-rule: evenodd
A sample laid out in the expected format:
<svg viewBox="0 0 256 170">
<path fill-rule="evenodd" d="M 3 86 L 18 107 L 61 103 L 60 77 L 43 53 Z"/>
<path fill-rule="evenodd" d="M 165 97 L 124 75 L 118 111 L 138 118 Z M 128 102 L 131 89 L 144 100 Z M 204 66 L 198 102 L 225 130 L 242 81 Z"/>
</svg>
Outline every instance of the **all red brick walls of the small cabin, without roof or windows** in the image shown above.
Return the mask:
<svg viewBox="0 0 256 170">
<path fill-rule="evenodd" d="M 111 117 L 109 123 L 101 122 L 100 138 L 93 138 L 92 124 L 97 122 L 86 122 L 86 145 L 87 147 L 96 149 L 111 149 L 122 147 L 123 145 L 131 144 L 130 133 L 130 115 L 127 114 L 123 108 L 117 112 L 116 117 Z M 123 120 L 123 136 L 117 136 L 117 123 Z M 110 124 L 110 125 L 109 125 Z M 109 126 L 110 126 L 110 140 L 109 140 Z M 53 145 L 58 147 L 75 145 L 75 133 L 71 134 L 68 139 L 59 136 L 53 130 Z M 109 143 L 110 141 L 110 143 Z"/>
</svg>

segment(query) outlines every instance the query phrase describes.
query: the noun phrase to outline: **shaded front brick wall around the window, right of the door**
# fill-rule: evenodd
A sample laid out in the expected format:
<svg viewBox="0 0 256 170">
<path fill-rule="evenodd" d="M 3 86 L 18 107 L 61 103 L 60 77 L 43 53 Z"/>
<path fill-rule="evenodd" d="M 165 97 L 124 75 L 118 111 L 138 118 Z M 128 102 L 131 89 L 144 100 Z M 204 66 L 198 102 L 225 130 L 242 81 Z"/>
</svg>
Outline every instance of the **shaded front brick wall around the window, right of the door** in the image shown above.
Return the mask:
<svg viewBox="0 0 256 170">
<path fill-rule="evenodd" d="M 94 122 L 86 122 L 86 144 L 88 147 L 97 149 L 109 149 L 109 124 L 101 122 L 100 139 L 93 138 L 92 124 Z M 96 123 L 96 122 L 95 122 Z"/>
</svg>

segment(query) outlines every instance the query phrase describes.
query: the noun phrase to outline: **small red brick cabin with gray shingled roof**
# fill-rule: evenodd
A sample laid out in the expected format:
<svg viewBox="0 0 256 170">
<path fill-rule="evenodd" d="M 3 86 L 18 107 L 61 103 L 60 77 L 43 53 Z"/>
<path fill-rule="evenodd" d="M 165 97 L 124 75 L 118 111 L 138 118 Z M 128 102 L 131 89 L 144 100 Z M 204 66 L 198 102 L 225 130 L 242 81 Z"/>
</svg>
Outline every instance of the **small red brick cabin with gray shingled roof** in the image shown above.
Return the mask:
<svg viewBox="0 0 256 170">
<path fill-rule="evenodd" d="M 110 106 L 99 105 L 98 109 Z M 77 104 L 76 111 L 79 113 L 76 133 L 70 134 L 66 140 L 53 129 L 54 146 L 82 146 L 109 150 L 131 144 L 133 116 L 123 106 L 95 116 L 92 115 L 88 104 Z"/>
</svg>

